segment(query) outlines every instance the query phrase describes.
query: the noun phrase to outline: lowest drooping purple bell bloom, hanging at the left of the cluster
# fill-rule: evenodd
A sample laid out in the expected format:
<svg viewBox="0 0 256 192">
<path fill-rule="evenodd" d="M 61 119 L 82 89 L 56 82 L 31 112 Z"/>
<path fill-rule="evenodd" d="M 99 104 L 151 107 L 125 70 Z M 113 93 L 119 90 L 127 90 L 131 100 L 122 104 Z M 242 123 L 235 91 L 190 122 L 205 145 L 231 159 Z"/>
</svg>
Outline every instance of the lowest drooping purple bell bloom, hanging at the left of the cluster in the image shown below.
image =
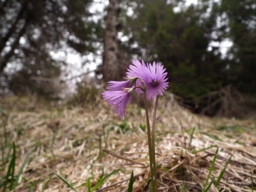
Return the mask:
<svg viewBox="0 0 256 192">
<path fill-rule="evenodd" d="M 128 91 L 105 91 L 102 92 L 103 100 L 107 100 L 110 107 L 114 107 L 114 112 L 120 118 L 125 115 L 125 107 L 132 100 L 132 94 Z"/>
</svg>

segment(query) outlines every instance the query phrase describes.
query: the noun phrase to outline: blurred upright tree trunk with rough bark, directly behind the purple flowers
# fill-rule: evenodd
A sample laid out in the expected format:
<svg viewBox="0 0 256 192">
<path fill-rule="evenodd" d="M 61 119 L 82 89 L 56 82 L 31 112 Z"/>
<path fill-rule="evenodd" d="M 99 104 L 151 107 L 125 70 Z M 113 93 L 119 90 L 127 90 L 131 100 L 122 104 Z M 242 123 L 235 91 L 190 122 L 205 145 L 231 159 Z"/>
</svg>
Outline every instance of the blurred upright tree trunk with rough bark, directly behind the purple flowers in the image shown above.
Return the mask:
<svg viewBox="0 0 256 192">
<path fill-rule="evenodd" d="M 105 82 L 119 80 L 117 26 L 119 24 L 119 0 L 110 0 L 105 20 L 104 54 L 102 75 Z"/>
</svg>

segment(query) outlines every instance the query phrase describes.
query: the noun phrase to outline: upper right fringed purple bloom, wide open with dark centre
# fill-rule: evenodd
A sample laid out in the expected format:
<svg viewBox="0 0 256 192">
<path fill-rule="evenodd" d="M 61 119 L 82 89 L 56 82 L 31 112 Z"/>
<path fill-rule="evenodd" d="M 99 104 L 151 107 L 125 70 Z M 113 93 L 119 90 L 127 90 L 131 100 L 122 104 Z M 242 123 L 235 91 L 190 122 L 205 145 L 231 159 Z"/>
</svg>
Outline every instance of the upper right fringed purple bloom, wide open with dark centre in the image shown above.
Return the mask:
<svg viewBox="0 0 256 192">
<path fill-rule="evenodd" d="M 144 64 L 139 62 L 139 60 L 133 60 L 132 63 L 134 65 L 130 65 L 127 77 L 128 78 L 140 78 L 146 84 L 146 99 L 151 100 L 154 99 L 157 95 L 163 95 L 164 90 L 169 85 L 169 82 L 166 82 L 168 78 L 166 78 L 167 73 L 164 73 L 166 69 L 164 66 L 159 63 L 153 64 Z M 142 85 L 140 80 L 137 80 L 139 85 Z M 138 85 L 137 85 L 138 86 Z M 141 92 L 137 89 L 138 92 Z"/>
</svg>

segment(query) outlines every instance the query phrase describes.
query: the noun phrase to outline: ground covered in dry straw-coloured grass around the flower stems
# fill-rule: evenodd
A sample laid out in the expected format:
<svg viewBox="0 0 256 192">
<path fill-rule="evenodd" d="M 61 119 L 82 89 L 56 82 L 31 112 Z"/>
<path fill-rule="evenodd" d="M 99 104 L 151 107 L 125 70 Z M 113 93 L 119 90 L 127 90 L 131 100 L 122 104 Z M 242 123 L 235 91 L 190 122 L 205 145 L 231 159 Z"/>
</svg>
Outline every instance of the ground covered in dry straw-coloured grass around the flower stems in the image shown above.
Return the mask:
<svg viewBox="0 0 256 192">
<path fill-rule="evenodd" d="M 0 118 L 0 190 L 4 183 L 6 191 L 11 186 L 11 177 L 5 176 L 15 142 L 14 179 L 30 155 L 14 191 L 73 191 L 50 170 L 77 191 L 87 191 L 87 178 L 95 186 L 102 170 L 107 176 L 117 169 L 120 171 L 107 178 L 98 191 L 127 191 L 132 170 L 133 191 L 149 191 L 144 110 L 137 105 L 127 107 L 126 119 L 119 119 L 104 102 L 70 110 L 2 111 Z M 201 117 L 166 96 L 160 100 L 156 129 L 159 191 L 202 191 L 213 176 L 209 191 L 255 188 L 254 120 Z M 214 155 L 216 149 L 218 156 Z"/>
</svg>

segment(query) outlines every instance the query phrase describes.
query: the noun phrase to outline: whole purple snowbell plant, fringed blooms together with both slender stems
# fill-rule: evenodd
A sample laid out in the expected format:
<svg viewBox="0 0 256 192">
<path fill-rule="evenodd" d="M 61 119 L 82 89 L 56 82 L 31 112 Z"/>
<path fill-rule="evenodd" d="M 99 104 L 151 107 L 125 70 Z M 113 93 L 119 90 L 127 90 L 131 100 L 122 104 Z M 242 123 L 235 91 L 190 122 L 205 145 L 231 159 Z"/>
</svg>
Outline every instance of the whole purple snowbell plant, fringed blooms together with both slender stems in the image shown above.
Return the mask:
<svg viewBox="0 0 256 192">
<path fill-rule="evenodd" d="M 167 73 L 164 66 L 159 63 L 142 63 L 139 60 L 133 60 L 133 65 L 129 65 L 127 70 L 126 81 L 110 81 L 107 85 L 107 91 L 102 93 L 103 99 L 114 107 L 114 112 L 119 117 L 124 117 L 125 107 L 132 100 L 132 92 L 144 94 L 145 111 L 146 111 L 146 128 L 149 143 L 149 166 L 151 172 L 151 191 L 157 192 L 156 181 L 156 158 L 155 158 L 155 128 L 156 128 L 156 107 L 158 105 L 159 95 L 164 94 L 164 90 L 169 85 L 166 82 Z M 149 105 L 148 100 L 156 98 L 154 107 L 152 129 L 149 122 Z M 151 134 L 152 133 L 152 134 Z"/>
</svg>

